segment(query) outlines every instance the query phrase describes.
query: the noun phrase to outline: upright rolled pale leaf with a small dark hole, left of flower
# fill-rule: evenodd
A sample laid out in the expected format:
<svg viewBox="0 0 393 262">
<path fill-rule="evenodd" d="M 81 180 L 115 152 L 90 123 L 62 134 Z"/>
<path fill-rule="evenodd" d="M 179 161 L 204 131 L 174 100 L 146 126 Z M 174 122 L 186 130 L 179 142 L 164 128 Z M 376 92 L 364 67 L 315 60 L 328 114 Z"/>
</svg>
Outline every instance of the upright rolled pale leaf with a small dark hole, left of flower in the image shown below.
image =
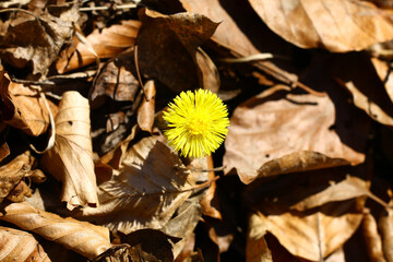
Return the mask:
<svg viewBox="0 0 393 262">
<path fill-rule="evenodd" d="M 44 155 L 43 166 L 62 181 L 61 200 L 68 209 L 97 206 L 87 99 L 78 92 L 66 92 L 55 123 L 55 146 Z"/>
</svg>

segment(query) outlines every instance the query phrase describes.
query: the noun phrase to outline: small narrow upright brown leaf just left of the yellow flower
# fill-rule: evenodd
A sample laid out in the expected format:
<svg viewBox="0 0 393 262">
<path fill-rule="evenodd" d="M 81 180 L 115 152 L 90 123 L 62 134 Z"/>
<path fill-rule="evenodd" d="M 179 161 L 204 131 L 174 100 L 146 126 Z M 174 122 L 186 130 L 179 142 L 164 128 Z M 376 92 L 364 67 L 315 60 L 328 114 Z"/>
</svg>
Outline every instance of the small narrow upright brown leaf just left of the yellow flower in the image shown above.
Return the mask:
<svg viewBox="0 0 393 262">
<path fill-rule="evenodd" d="M 153 132 L 154 114 L 155 114 L 155 95 L 156 87 L 153 80 L 150 80 L 143 86 L 144 98 L 138 109 L 138 126 L 143 131 Z M 148 99 L 148 102 L 146 100 Z"/>
</svg>

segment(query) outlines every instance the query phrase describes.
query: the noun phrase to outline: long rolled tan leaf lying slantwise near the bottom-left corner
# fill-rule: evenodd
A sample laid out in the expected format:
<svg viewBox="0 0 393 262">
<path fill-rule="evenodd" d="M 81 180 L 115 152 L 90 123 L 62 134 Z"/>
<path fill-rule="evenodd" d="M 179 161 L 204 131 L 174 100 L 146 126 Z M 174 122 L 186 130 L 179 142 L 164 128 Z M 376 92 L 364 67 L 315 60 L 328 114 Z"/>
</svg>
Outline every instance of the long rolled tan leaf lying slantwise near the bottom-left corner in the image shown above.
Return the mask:
<svg viewBox="0 0 393 262">
<path fill-rule="evenodd" d="M 94 259 L 111 247 L 109 230 L 105 227 L 71 217 L 62 218 L 27 203 L 12 203 L 5 206 L 4 211 L 5 214 L 0 216 L 0 219 L 34 231 L 85 258 Z"/>
</svg>

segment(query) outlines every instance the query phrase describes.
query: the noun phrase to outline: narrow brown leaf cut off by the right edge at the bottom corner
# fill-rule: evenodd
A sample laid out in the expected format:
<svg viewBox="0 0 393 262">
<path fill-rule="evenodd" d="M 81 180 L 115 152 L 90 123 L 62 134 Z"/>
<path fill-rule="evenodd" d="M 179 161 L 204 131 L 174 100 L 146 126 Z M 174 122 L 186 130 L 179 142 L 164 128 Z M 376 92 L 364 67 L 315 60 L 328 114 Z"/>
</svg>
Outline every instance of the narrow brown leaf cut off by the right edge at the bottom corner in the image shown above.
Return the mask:
<svg viewBox="0 0 393 262">
<path fill-rule="evenodd" d="M 383 211 L 378 222 L 378 228 L 382 237 L 384 258 L 388 262 L 393 262 L 393 212 L 391 209 Z"/>
</svg>

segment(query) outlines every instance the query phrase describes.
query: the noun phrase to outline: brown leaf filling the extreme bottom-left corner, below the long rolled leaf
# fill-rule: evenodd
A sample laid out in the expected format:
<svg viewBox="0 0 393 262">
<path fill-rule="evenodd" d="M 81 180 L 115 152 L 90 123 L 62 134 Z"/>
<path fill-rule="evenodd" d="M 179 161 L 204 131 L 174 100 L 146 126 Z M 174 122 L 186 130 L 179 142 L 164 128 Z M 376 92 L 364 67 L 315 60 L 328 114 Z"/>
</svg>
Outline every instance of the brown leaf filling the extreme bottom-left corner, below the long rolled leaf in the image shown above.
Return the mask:
<svg viewBox="0 0 393 262">
<path fill-rule="evenodd" d="M 50 262 L 48 254 L 31 234 L 8 227 L 0 227 L 0 260 Z"/>
</svg>

